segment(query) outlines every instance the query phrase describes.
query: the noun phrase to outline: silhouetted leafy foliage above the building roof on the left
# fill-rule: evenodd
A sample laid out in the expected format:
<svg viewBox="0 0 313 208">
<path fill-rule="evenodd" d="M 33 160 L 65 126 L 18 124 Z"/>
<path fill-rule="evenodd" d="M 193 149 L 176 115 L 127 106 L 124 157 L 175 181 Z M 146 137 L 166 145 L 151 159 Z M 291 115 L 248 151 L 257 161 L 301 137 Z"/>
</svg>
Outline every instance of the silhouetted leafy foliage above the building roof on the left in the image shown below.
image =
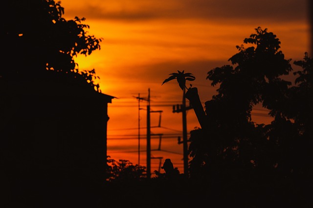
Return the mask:
<svg viewBox="0 0 313 208">
<path fill-rule="evenodd" d="M 3 2 L 3 8 L 10 14 L 2 13 L 1 37 L 6 53 L 1 78 L 36 81 L 45 76 L 45 71 L 53 71 L 59 76 L 74 74 L 72 77 L 78 79 L 73 82 L 99 92 L 99 86 L 90 79 L 94 69 L 80 72 L 74 61 L 79 54 L 88 56 L 100 50 L 102 38 L 88 35 L 89 25 L 82 24 L 85 18 L 64 19 L 61 2 L 54 0 L 10 0 Z"/>
</svg>

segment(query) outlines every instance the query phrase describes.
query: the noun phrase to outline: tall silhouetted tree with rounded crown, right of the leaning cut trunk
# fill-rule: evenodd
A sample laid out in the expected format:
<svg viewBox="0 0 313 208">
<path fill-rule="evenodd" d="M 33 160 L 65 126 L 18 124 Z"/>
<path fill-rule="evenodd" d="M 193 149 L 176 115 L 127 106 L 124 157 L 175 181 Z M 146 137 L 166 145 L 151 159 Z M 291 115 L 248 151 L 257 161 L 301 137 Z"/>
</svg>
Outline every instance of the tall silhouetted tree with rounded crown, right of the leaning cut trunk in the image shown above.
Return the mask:
<svg viewBox="0 0 313 208">
<path fill-rule="evenodd" d="M 212 100 L 205 102 L 205 131 L 191 132 L 192 175 L 223 177 L 230 174 L 229 170 L 256 167 L 269 171 L 277 163 L 276 138 L 267 140 L 269 127 L 255 125 L 251 111 L 262 102 L 272 116 L 279 113 L 276 107 L 284 103 L 291 85 L 280 76 L 292 69 L 290 60 L 279 51 L 279 39 L 267 29 L 255 30 L 256 34 L 244 40 L 253 46 L 237 46 L 239 53 L 229 59 L 235 67 L 224 65 L 208 72 L 207 79 L 213 86 L 219 84 L 219 89 Z"/>
</svg>

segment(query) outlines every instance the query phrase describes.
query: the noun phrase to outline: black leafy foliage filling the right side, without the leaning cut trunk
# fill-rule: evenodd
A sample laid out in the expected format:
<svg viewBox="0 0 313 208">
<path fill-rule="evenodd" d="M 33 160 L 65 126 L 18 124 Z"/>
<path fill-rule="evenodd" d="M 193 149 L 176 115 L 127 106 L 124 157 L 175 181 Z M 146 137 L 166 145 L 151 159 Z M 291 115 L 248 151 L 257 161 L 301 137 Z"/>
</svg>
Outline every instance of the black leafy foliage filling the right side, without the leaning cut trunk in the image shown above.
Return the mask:
<svg viewBox="0 0 313 208">
<path fill-rule="evenodd" d="M 260 180 L 268 175 L 263 182 L 269 183 L 275 177 L 309 177 L 312 59 L 306 53 L 304 61 L 294 62 L 303 71 L 294 73 L 299 77 L 291 87 L 282 78 L 292 71 L 291 59 L 279 51 L 279 39 L 267 29 L 255 31 L 244 39 L 252 46 L 236 46 L 239 53 L 229 58 L 232 65 L 208 72 L 211 85 L 219 88 L 205 102 L 207 127 L 190 132 L 192 178 Z M 252 122 L 251 111 L 258 103 L 269 110 L 271 124 Z"/>
</svg>

